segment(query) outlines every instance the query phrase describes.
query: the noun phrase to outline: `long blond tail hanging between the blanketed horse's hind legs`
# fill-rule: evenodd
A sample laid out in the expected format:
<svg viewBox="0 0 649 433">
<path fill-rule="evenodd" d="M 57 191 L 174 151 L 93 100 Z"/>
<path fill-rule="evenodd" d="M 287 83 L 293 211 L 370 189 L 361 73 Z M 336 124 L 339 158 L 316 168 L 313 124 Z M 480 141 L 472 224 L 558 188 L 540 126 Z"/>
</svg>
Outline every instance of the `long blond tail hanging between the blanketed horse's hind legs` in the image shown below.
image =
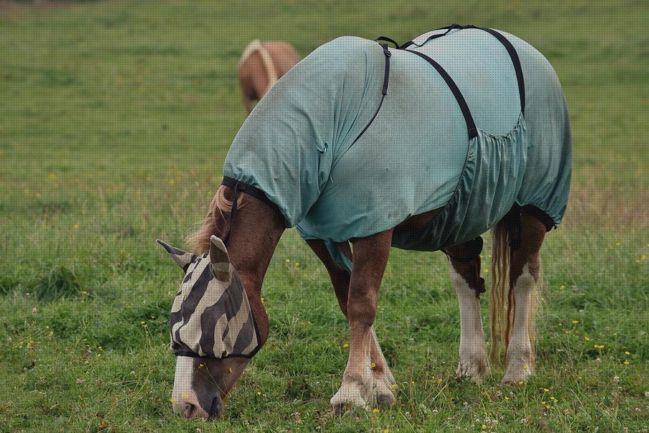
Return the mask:
<svg viewBox="0 0 649 433">
<path fill-rule="evenodd" d="M 509 281 L 511 266 L 511 247 L 509 224 L 506 218 L 501 219 L 491 230 L 491 351 L 489 358 L 492 364 L 500 364 L 500 345 L 504 346 L 502 360 L 506 362 L 509 334 L 513 323 L 514 296 L 513 286 Z"/>
</svg>

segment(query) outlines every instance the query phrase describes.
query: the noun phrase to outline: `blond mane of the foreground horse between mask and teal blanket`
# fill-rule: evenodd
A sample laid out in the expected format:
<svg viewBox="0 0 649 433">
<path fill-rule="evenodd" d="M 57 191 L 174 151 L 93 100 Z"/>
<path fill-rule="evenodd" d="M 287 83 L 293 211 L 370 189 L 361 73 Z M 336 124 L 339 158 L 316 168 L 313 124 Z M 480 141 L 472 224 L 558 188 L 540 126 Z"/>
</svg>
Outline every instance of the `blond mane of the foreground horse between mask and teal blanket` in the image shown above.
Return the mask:
<svg viewBox="0 0 649 433">
<path fill-rule="evenodd" d="M 212 203 L 210 203 L 207 215 L 201 223 L 197 224 L 197 229 L 185 239 L 189 251 L 197 254 L 205 253 L 210 249 L 210 238 L 213 234 L 221 239 L 227 235 L 230 230 L 230 227 L 227 227 L 228 216 L 232 212 L 232 200 L 226 197 L 227 192 L 233 193 L 231 188 L 225 185 L 219 186 Z M 245 202 L 243 196 L 245 194 L 239 194 L 237 209 L 241 208 Z"/>
</svg>

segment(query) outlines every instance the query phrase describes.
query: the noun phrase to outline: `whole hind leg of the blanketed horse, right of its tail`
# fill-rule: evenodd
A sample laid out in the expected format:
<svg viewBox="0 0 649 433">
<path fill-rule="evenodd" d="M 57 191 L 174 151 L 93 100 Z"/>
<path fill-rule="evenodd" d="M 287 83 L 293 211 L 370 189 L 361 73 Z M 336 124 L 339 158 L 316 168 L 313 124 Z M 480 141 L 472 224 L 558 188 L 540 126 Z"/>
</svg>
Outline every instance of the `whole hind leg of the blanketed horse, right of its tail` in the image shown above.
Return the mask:
<svg viewBox="0 0 649 433">
<path fill-rule="evenodd" d="M 513 251 L 509 269 L 509 281 L 513 282 L 514 321 L 506 352 L 507 369 L 503 383 L 525 380 L 534 368 L 530 331 L 535 319 L 535 286 L 541 275 L 539 251 L 546 229 L 541 221 L 524 211 L 520 223 L 520 247 Z"/>
</svg>

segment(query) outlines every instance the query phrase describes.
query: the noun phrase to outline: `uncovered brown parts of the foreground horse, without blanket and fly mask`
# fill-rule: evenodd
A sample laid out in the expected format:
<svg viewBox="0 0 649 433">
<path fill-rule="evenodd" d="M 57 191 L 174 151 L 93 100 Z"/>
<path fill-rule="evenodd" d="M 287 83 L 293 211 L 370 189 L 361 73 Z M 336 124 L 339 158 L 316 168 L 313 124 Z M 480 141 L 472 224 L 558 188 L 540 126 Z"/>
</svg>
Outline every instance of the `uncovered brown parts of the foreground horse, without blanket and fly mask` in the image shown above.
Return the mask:
<svg viewBox="0 0 649 433">
<path fill-rule="evenodd" d="M 237 269 L 256 318 L 262 345 L 269 333 L 268 316 L 262 304 L 262 282 L 275 247 L 285 229 L 282 214 L 267 203 L 240 195 L 236 219 L 229 226 L 233 191 L 221 186 L 201 229 L 191 236 L 195 251 L 207 251 L 210 237 L 230 234 L 228 253 Z M 352 273 L 338 266 L 328 253 L 324 242 L 308 241 L 313 252 L 322 260 L 331 278 L 339 306 L 350 325 L 349 362 L 343 375 L 343 385 L 332 398 L 339 410 L 345 402 L 374 406 L 395 401 L 391 385 L 393 375 L 378 345 L 373 330 L 378 292 L 389 256 L 395 231 L 422 227 L 439 209 L 411 217 L 397 227 L 368 238 L 340 243 L 339 249 L 353 258 Z M 504 383 L 525 380 L 533 371 L 533 304 L 535 286 L 539 280 L 541 260 L 539 250 L 546 228 L 535 217 L 522 212 L 520 234 L 505 217 L 494 229 L 492 310 L 492 355 L 498 354 L 498 341 L 506 347 Z M 520 247 L 509 248 L 509 241 L 520 239 Z M 482 382 L 487 374 L 479 293 L 484 287 L 480 278 L 480 256 L 474 254 L 471 242 L 447 249 L 451 280 L 458 295 L 460 314 L 460 344 L 458 377 Z M 500 325 L 502 324 L 502 326 Z M 493 358 L 496 360 L 495 358 Z M 173 399 L 174 410 L 185 417 L 208 417 L 212 401 L 222 410 L 225 399 L 248 364 L 247 358 L 204 359 L 178 356 Z M 371 368 L 370 365 L 375 367 Z M 190 392 L 188 392 L 190 391 Z"/>
</svg>

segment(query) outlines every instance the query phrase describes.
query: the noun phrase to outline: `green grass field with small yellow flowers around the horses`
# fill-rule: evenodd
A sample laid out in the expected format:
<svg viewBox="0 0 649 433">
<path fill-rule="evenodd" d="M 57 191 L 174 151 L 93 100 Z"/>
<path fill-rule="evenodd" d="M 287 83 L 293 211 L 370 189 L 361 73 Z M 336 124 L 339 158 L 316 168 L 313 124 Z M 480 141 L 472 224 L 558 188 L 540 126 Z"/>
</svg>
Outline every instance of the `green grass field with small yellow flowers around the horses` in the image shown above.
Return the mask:
<svg viewBox="0 0 649 433">
<path fill-rule="evenodd" d="M 0 430 L 646 432 L 647 1 L 0 7 Z M 333 417 L 349 332 L 288 230 L 264 282 L 269 341 L 227 418 L 174 415 L 167 321 L 181 273 L 154 240 L 180 246 L 220 184 L 245 119 L 245 45 L 287 40 L 307 55 L 343 34 L 406 41 L 453 22 L 535 45 L 572 114 L 569 211 L 542 251 L 537 375 L 515 388 L 497 367 L 482 386 L 456 381 L 446 259 L 393 250 L 375 327 L 398 402 Z"/>
</svg>

